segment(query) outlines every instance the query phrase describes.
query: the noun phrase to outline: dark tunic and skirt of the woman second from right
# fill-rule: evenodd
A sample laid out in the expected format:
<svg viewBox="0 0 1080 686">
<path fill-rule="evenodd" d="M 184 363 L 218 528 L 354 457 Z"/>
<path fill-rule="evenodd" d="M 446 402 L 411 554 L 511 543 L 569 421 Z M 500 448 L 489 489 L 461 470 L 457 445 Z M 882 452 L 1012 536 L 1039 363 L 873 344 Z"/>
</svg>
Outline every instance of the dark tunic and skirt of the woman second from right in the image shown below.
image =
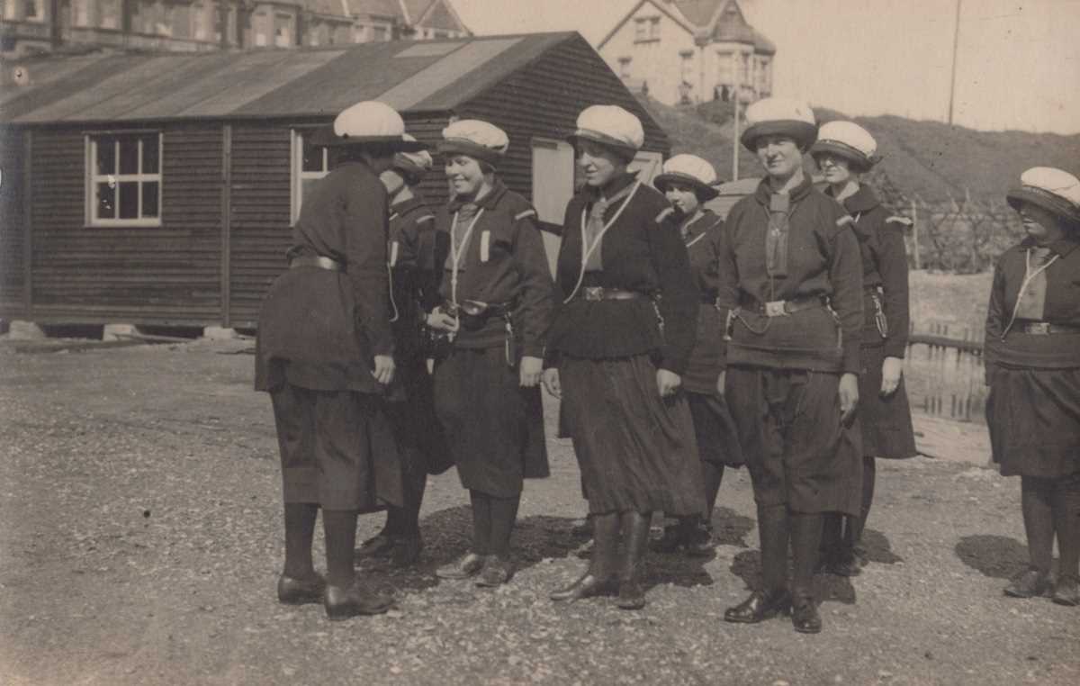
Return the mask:
<svg viewBox="0 0 1080 686">
<path fill-rule="evenodd" d="M 825 191 L 829 194 L 829 190 Z M 863 347 L 859 375 L 859 421 L 863 453 L 872 457 L 915 457 L 915 430 L 904 377 L 896 391 L 881 396 L 881 364 L 903 359 L 907 349 L 906 221 L 890 217 L 867 186 L 843 200 L 854 221 L 863 259 Z"/>
</svg>

